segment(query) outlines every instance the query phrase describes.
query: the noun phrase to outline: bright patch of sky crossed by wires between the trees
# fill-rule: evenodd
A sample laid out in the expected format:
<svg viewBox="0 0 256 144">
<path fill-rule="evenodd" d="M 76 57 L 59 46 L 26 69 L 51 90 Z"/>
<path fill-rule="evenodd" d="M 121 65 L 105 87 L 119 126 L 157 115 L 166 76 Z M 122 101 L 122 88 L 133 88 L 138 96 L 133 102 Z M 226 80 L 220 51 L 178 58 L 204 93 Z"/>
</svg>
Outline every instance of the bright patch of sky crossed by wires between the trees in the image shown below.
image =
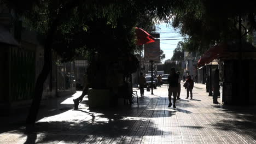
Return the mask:
<svg viewBox="0 0 256 144">
<path fill-rule="evenodd" d="M 156 33 L 160 33 L 160 49 L 164 51 L 165 60 L 172 58 L 173 50 L 176 48 L 179 41 L 183 41 L 183 37 L 179 34 L 179 31 L 175 31 L 172 26 L 166 25 L 166 23 L 160 23 L 156 25 Z"/>
</svg>

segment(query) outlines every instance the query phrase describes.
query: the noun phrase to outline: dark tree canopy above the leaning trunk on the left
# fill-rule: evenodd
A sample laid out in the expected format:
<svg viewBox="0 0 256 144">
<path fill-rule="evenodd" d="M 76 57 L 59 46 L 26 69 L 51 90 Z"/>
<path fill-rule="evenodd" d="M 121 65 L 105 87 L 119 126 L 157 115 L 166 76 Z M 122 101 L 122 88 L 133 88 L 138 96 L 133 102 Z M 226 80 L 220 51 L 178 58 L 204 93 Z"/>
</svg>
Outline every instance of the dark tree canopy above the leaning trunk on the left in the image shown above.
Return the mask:
<svg viewBox="0 0 256 144">
<path fill-rule="evenodd" d="M 127 57 L 139 48 L 135 45 L 135 27 L 155 31 L 155 21 L 168 21 L 171 7 L 178 4 L 167 0 L 161 3 L 138 0 L 37 0 L 22 8 L 16 0 L 9 2 L 17 11 L 22 11 L 26 26 L 44 35 L 45 39 L 53 33 L 50 49 L 61 56 L 62 61 L 72 61 L 78 55 L 86 56 L 91 61 L 96 52 L 106 55 L 109 61 Z M 164 54 L 161 55 L 163 58 Z"/>
</svg>

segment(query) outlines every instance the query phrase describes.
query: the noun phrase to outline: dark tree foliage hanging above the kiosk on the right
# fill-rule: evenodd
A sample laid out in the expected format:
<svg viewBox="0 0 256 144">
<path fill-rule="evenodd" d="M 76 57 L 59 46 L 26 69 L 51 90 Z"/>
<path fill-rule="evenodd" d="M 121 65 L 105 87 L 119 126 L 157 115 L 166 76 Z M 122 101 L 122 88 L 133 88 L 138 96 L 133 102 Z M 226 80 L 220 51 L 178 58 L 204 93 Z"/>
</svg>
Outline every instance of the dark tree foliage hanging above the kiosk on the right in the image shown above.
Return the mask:
<svg viewBox="0 0 256 144">
<path fill-rule="evenodd" d="M 172 26 L 187 38 L 187 51 L 199 52 L 210 44 L 239 38 L 238 15 L 242 16 L 243 35 L 256 28 L 255 1 L 179 1 L 173 7 Z"/>
</svg>

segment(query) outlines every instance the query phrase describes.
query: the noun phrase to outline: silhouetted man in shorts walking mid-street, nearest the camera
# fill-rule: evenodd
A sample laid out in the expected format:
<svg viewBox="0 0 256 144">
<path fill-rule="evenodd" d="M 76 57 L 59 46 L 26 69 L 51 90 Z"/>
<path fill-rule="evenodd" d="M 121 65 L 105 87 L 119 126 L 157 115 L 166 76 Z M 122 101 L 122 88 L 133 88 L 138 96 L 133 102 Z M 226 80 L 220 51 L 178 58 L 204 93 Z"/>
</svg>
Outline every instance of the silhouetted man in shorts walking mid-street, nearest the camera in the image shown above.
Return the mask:
<svg viewBox="0 0 256 144">
<path fill-rule="evenodd" d="M 172 95 L 173 95 L 173 108 L 176 108 L 175 102 L 178 92 L 178 79 L 179 75 L 176 73 L 175 68 L 171 68 L 171 74 L 168 76 L 168 98 L 169 98 L 169 105 L 168 107 L 172 106 Z"/>
</svg>

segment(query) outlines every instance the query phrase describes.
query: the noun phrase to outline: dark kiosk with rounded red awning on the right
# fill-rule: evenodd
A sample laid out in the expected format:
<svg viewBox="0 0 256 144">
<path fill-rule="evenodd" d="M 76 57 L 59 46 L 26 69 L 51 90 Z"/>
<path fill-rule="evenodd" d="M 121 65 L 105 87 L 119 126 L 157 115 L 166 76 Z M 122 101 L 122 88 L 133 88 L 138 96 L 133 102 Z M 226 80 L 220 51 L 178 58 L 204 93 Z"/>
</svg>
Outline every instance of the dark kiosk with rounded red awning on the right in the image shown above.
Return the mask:
<svg viewBox="0 0 256 144">
<path fill-rule="evenodd" d="M 254 74 L 256 70 L 256 48 L 252 44 L 243 41 L 241 52 L 238 52 L 239 49 L 240 46 L 237 41 L 217 44 L 202 55 L 197 66 L 202 67 L 206 63 L 211 63 L 213 59 L 218 59 L 219 79 L 221 81 L 220 99 L 224 104 L 256 104 L 256 75 Z M 207 69 L 207 75 L 213 77 L 211 69 L 211 67 Z M 207 92 L 211 93 L 209 87 Z"/>
</svg>

